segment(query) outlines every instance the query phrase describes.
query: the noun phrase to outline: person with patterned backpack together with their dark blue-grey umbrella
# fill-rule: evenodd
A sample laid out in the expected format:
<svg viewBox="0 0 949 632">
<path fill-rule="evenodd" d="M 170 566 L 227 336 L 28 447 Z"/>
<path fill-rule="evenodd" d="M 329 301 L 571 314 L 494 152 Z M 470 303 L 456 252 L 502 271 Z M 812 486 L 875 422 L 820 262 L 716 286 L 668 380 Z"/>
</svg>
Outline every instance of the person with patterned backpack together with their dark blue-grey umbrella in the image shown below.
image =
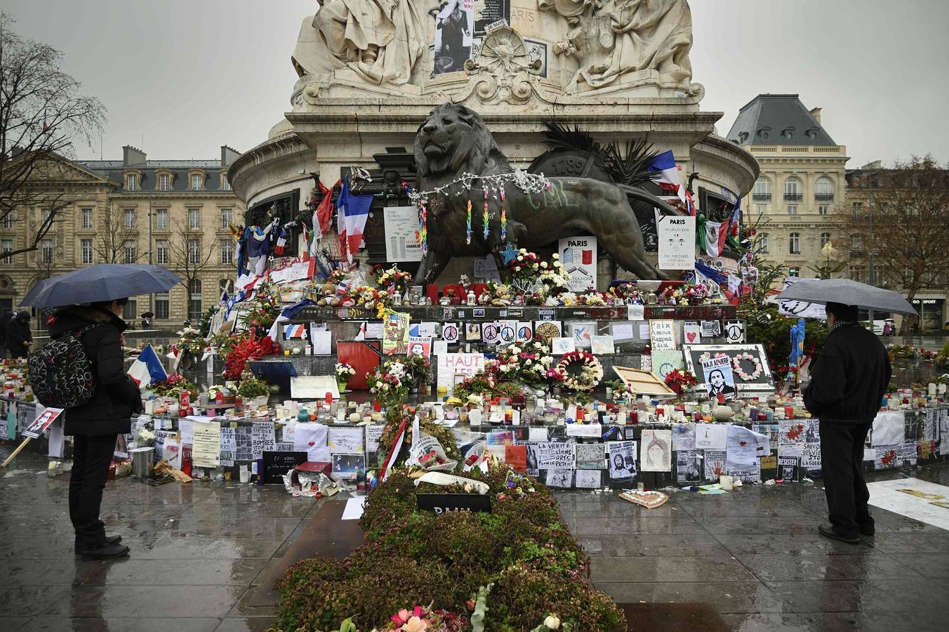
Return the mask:
<svg viewBox="0 0 949 632">
<path fill-rule="evenodd" d="M 114 559 L 129 552 L 121 536 L 105 534 L 99 517 L 116 439 L 131 431 L 132 415 L 144 408 L 139 384 L 125 373 L 123 307 L 128 296 L 167 291 L 179 282 L 175 274 L 158 266 L 101 264 L 46 279 L 23 300 L 22 305 L 60 307 L 47 321 L 50 345 L 69 336 L 78 340 L 92 376 L 91 394 L 85 392 L 82 403 L 66 408 L 64 422 L 65 435 L 73 437 L 69 518 L 76 554 L 83 560 Z M 56 371 L 37 376 L 31 371 L 30 376 L 37 383 L 65 387 L 72 383 L 62 381 Z"/>
</svg>

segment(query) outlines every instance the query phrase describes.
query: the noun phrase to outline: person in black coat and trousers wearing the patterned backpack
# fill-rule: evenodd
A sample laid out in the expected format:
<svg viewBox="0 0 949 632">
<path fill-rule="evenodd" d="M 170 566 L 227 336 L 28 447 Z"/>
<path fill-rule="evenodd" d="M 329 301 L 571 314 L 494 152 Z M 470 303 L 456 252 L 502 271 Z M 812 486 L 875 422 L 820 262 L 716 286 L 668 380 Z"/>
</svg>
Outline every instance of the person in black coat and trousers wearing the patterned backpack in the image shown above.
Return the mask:
<svg viewBox="0 0 949 632">
<path fill-rule="evenodd" d="M 72 435 L 73 463 L 69 479 L 69 518 L 76 530 L 76 552 L 84 560 L 128 554 L 121 536 L 105 535 L 99 519 L 102 490 L 109 474 L 116 438 L 131 431 L 131 417 L 142 411 L 139 385 L 125 374 L 121 320 L 128 299 L 65 307 L 48 321 L 49 336 L 60 338 L 80 332 L 95 378 L 92 399 L 65 413 L 65 434 Z"/>
</svg>

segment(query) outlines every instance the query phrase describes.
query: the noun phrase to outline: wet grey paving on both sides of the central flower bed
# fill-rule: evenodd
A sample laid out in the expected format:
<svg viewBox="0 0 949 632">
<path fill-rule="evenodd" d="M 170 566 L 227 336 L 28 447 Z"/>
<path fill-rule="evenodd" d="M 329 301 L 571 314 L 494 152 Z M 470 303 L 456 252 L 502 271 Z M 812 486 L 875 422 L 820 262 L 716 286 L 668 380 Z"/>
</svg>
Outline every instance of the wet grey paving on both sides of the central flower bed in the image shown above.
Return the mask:
<svg viewBox="0 0 949 632">
<path fill-rule="evenodd" d="M 9 445 L 0 446 L 0 456 Z M 68 474 L 21 455 L 0 472 L 0 630 L 265 630 L 252 596 L 323 501 L 281 487 L 109 482 L 102 520 L 131 557 L 73 556 Z M 910 473 L 943 485 L 949 467 Z M 901 474 L 876 475 L 874 480 Z M 859 546 L 817 535 L 824 493 L 809 484 L 727 495 L 673 493 L 646 510 L 612 493 L 557 493 L 618 603 L 715 606 L 736 630 L 944 629 L 949 531 L 873 509 Z M 695 629 L 695 628 L 694 628 Z"/>
</svg>

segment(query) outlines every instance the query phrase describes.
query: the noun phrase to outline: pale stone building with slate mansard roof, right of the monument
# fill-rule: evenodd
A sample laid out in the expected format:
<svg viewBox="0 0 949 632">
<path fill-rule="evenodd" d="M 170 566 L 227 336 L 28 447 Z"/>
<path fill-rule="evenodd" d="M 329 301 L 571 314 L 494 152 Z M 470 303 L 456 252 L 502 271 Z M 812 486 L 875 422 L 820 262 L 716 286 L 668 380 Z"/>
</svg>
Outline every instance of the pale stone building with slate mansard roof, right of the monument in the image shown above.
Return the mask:
<svg viewBox="0 0 949 632">
<path fill-rule="evenodd" d="M 834 214 L 846 204 L 847 147 L 830 138 L 819 107 L 808 109 L 796 94 L 758 95 L 741 108 L 728 139 L 761 168 L 742 214 L 756 227 L 762 256 L 813 277 L 827 263 L 828 242 L 846 255 L 849 239 Z"/>
</svg>

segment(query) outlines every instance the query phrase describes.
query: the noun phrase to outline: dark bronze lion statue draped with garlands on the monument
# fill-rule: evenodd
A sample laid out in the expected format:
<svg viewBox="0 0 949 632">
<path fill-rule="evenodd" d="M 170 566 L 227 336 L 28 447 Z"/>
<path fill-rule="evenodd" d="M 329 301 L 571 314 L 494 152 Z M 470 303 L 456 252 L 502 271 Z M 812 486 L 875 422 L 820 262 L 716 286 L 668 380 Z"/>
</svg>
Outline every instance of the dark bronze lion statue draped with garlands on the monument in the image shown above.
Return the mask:
<svg viewBox="0 0 949 632">
<path fill-rule="evenodd" d="M 512 173 L 481 117 L 473 110 L 445 103 L 432 110 L 419 125 L 415 138 L 419 191 L 445 187 L 429 195 L 427 209 L 428 251 L 422 257 L 416 283 L 434 283 L 453 256 L 493 253 L 498 270 L 505 270 L 500 251 L 501 202 L 489 191 L 489 234 L 484 237 L 484 190 L 474 179 L 472 188 L 450 184 L 463 174 L 496 176 Z M 504 185 L 507 235 L 505 242 L 535 250 L 563 237 L 592 234 L 602 248 L 625 270 L 641 279 L 664 279 L 650 264 L 642 246 L 642 232 L 627 195 L 647 199 L 669 214 L 677 212 L 659 198 L 640 189 L 589 177 L 550 177 L 549 189 L 522 191 L 515 183 Z M 449 185 L 449 186 L 446 186 Z M 466 241 L 468 201 L 472 203 L 472 239 Z"/>
</svg>

